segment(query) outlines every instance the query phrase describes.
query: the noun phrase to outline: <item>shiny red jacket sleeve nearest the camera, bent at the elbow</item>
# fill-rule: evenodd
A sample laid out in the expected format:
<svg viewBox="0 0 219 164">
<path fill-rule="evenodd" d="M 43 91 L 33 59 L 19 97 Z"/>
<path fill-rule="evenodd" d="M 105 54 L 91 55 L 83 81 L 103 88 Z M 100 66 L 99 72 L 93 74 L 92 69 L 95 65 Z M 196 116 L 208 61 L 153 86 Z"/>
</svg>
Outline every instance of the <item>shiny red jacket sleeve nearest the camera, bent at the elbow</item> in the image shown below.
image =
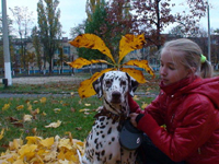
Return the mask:
<svg viewBox="0 0 219 164">
<path fill-rule="evenodd" d="M 197 95 L 189 97 L 182 106 L 185 110 L 183 120 L 180 125 L 175 124 L 177 127 L 174 127 L 171 133 L 160 127 L 149 114 L 138 122 L 138 129 L 146 132 L 152 142 L 175 162 L 183 161 L 197 152 L 218 126 L 216 109 L 207 97 L 200 98 Z"/>
</svg>

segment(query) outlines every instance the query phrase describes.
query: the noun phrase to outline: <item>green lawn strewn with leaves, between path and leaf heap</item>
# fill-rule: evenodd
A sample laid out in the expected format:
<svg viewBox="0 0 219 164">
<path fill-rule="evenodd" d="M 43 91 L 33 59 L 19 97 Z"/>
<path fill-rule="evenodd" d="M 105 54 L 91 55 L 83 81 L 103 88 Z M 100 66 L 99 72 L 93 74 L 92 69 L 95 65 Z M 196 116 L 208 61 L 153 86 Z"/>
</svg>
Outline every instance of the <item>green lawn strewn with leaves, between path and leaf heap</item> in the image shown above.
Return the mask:
<svg viewBox="0 0 219 164">
<path fill-rule="evenodd" d="M 102 101 L 97 97 L 89 97 L 80 99 L 79 96 L 67 97 L 47 97 L 46 103 L 41 103 L 42 97 L 28 98 L 0 98 L 0 131 L 4 130 L 3 138 L 0 140 L 0 152 L 5 151 L 10 141 L 21 138 L 25 140 L 27 136 L 41 136 L 43 138 L 68 136 L 70 131 L 74 139 L 84 140 L 91 130 L 96 113 L 96 108 L 102 105 Z M 152 98 L 140 97 L 139 105 L 142 102 L 149 103 Z M 32 110 L 39 109 L 39 113 L 33 115 L 27 109 L 27 102 L 32 105 Z M 2 110 L 4 104 L 10 104 L 10 107 Z M 85 106 L 91 104 L 91 106 Z M 22 109 L 16 109 L 18 106 L 24 105 Z M 59 108 L 59 113 L 54 109 Z M 87 114 L 80 109 L 90 109 Z M 46 113 L 46 116 L 43 114 Z M 23 121 L 24 115 L 34 116 L 32 121 Z M 14 121 L 16 120 L 16 121 Z M 50 122 L 61 121 L 58 128 L 45 128 Z M 16 124 L 15 124 L 16 122 Z M 33 129 L 36 128 L 36 132 Z"/>
</svg>

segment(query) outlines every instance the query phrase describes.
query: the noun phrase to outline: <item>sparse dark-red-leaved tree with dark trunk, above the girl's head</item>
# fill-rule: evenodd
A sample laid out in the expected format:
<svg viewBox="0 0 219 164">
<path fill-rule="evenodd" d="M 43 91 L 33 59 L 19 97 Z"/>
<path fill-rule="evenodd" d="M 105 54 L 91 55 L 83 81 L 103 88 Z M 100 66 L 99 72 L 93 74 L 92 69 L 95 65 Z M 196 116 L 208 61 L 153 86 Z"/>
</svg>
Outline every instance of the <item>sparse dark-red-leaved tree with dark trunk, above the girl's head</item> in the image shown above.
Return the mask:
<svg viewBox="0 0 219 164">
<path fill-rule="evenodd" d="M 197 27 L 200 17 L 206 14 L 205 0 L 186 0 L 181 3 L 181 11 L 172 12 L 175 1 L 171 0 L 132 0 L 134 32 L 145 33 L 149 44 L 158 49 L 164 39 L 161 33 L 172 23 L 183 24 L 184 32 Z M 188 11 L 185 9 L 188 8 Z M 183 10 L 184 9 L 184 10 Z"/>
</svg>

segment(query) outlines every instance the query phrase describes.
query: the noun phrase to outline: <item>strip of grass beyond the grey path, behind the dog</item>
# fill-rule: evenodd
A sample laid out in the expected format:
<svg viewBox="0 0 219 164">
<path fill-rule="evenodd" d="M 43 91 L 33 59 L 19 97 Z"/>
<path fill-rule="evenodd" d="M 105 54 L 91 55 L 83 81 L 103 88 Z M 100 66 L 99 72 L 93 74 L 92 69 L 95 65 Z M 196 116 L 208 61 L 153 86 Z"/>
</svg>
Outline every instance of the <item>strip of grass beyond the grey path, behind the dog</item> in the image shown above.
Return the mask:
<svg viewBox="0 0 219 164">
<path fill-rule="evenodd" d="M 83 81 L 83 79 L 89 79 L 91 74 L 89 73 L 82 73 L 77 74 L 74 78 L 80 78 L 80 80 L 71 81 L 71 82 L 50 82 L 46 84 L 16 84 L 14 83 L 12 86 L 4 87 L 3 84 L 0 84 L 0 93 L 51 93 L 51 94 L 58 94 L 58 93 L 71 93 L 71 92 L 78 92 L 78 89 L 80 86 L 80 82 Z M 146 75 L 146 79 L 148 80 L 145 84 L 139 84 L 136 92 L 142 92 L 146 93 L 149 91 L 150 93 L 158 94 L 159 85 L 158 81 L 159 79 L 151 79 L 151 75 Z"/>
</svg>

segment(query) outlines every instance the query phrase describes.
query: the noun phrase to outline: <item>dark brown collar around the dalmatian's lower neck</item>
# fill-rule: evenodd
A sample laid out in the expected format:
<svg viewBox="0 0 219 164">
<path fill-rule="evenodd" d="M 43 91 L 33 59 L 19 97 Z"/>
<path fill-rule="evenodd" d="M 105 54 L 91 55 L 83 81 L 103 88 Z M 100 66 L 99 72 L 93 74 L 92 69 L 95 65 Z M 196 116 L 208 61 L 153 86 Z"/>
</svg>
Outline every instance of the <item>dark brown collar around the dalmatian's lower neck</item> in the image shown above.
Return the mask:
<svg viewBox="0 0 219 164">
<path fill-rule="evenodd" d="M 113 114 L 113 113 L 108 112 L 105 107 L 104 107 L 103 109 L 101 109 L 101 110 L 94 116 L 94 118 L 99 118 L 100 116 L 106 116 L 107 118 L 113 119 L 113 124 L 116 122 L 116 121 L 123 121 L 123 120 L 126 120 L 126 119 L 127 119 L 126 116 Z"/>
</svg>

